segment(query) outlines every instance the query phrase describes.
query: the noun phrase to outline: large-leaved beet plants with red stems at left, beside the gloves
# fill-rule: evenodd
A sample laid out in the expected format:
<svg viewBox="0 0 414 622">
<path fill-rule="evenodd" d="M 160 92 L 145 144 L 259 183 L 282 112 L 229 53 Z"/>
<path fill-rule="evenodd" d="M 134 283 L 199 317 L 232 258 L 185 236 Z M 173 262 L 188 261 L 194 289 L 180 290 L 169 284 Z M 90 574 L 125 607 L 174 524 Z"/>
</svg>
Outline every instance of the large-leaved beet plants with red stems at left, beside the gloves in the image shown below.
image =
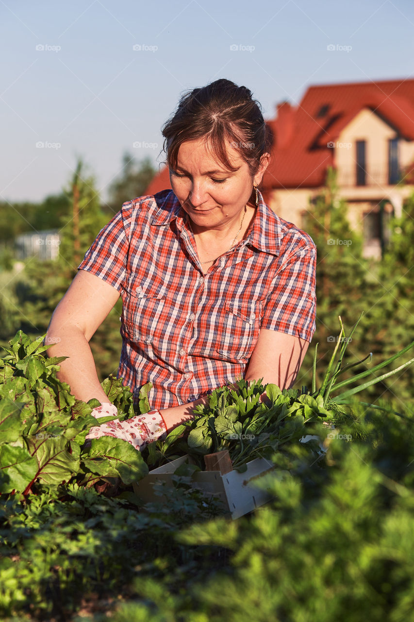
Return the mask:
<svg viewBox="0 0 414 622">
<path fill-rule="evenodd" d="M 75 399 L 55 375 L 66 357 L 45 358 L 43 340 L 32 342 L 19 331 L 0 360 L 0 493 L 27 495 L 73 481 L 91 486 L 105 477 L 130 484 L 144 476 L 147 465 L 129 443 L 103 437 L 84 447 L 99 402 Z M 120 407 L 121 419 L 135 414 L 132 393 L 121 380 L 106 379 L 103 388 Z"/>
</svg>

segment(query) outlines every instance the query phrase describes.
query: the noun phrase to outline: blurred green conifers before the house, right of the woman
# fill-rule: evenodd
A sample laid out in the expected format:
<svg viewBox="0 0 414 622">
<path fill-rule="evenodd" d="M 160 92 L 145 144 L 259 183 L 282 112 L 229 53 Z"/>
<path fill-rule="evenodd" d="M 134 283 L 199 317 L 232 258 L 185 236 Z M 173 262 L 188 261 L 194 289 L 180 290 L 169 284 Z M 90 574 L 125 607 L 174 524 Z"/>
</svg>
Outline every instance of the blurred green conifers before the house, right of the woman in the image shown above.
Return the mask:
<svg viewBox="0 0 414 622">
<path fill-rule="evenodd" d="M 410 226 L 404 221 L 402 230 L 403 227 L 408 230 Z M 324 373 L 323 363 L 328 363 L 337 343 L 339 315 L 346 335 L 349 335 L 363 312 L 347 345 L 343 366 L 366 358 L 370 352 L 372 364 L 379 363 L 410 343 L 410 335 L 414 334 L 414 310 L 407 296 L 398 295 L 394 281 L 398 262 L 403 266 L 412 249 L 404 238 L 400 239 L 393 253 L 387 255 L 386 261 L 364 258 L 362 237 L 351 230 L 346 202 L 338 198 L 336 176 L 332 169 L 328 170 L 326 187 L 311 205 L 303 228 L 317 248 L 316 331 L 297 378 L 298 386 L 309 386 L 316 343 L 318 384 Z M 398 230 L 395 235 L 398 235 Z M 397 368 L 405 360 L 398 360 L 398 364 L 385 368 L 381 373 Z M 364 371 L 368 365 L 369 361 L 344 372 L 343 378 Z M 397 374 L 389 381 L 367 389 L 366 397 L 371 401 L 381 395 L 393 399 L 412 399 L 412 381 L 413 370 L 408 368 L 400 376 Z"/>
</svg>

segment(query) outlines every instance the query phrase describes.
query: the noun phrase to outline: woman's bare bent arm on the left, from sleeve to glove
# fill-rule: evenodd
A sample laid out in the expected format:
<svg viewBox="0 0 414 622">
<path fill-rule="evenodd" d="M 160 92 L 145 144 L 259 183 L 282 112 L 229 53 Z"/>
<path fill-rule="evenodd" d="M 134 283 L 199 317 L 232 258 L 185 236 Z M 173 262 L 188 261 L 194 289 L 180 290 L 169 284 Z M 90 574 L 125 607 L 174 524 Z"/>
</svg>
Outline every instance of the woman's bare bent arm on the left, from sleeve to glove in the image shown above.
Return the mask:
<svg viewBox="0 0 414 622">
<path fill-rule="evenodd" d="M 48 356 L 68 356 L 60 363 L 58 379 L 84 402 L 95 397 L 108 402 L 89 345 L 91 337 L 119 299 L 119 292 L 103 279 L 80 270 L 53 312 L 45 345 Z"/>
</svg>

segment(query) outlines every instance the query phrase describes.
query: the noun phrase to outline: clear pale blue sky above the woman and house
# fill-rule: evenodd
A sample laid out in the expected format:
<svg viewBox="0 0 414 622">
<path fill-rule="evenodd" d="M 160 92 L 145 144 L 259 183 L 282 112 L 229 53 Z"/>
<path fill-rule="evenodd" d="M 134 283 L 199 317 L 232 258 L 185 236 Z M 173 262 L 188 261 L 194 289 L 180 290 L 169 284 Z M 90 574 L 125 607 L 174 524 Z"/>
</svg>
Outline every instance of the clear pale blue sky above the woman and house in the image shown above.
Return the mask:
<svg viewBox="0 0 414 622">
<path fill-rule="evenodd" d="M 77 155 L 106 200 L 123 152 L 161 162 L 180 93 L 217 78 L 270 118 L 310 85 L 414 77 L 409 0 L 0 0 L 0 16 L 3 200 L 60 192 Z"/>
</svg>

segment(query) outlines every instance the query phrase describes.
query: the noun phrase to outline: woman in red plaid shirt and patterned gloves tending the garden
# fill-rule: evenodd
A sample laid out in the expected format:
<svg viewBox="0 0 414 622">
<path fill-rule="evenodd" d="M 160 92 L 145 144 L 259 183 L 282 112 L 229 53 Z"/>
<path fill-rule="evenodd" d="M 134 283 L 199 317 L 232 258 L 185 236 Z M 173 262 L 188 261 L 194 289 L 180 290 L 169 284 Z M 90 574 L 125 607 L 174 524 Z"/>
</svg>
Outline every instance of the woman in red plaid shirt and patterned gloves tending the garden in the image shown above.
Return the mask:
<svg viewBox="0 0 414 622">
<path fill-rule="evenodd" d="M 172 190 L 138 197 L 98 234 L 53 313 L 50 356 L 96 417 L 117 414 L 88 341 L 122 296 L 118 377 L 153 410 L 94 427 L 142 449 L 237 378 L 292 386 L 315 332 L 316 248 L 257 189 L 269 134 L 251 91 L 216 80 L 163 127 Z M 58 339 L 57 339 L 58 338 Z"/>
</svg>

